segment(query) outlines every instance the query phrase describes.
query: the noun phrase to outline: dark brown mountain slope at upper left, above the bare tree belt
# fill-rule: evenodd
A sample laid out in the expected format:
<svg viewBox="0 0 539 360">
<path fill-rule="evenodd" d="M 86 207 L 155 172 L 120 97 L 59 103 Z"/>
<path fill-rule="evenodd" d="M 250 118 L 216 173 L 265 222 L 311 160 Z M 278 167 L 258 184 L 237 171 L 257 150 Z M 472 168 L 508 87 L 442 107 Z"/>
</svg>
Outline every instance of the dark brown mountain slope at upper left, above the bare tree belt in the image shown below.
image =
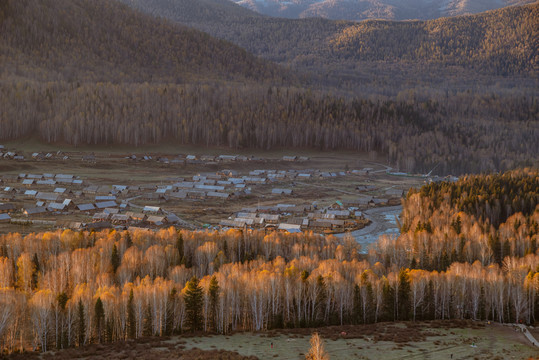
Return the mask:
<svg viewBox="0 0 539 360">
<path fill-rule="evenodd" d="M 271 79 L 279 72 L 233 44 L 116 1 L 0 4 L 5 74 L 45 80 L 190 82 Z"/>
</svg>

